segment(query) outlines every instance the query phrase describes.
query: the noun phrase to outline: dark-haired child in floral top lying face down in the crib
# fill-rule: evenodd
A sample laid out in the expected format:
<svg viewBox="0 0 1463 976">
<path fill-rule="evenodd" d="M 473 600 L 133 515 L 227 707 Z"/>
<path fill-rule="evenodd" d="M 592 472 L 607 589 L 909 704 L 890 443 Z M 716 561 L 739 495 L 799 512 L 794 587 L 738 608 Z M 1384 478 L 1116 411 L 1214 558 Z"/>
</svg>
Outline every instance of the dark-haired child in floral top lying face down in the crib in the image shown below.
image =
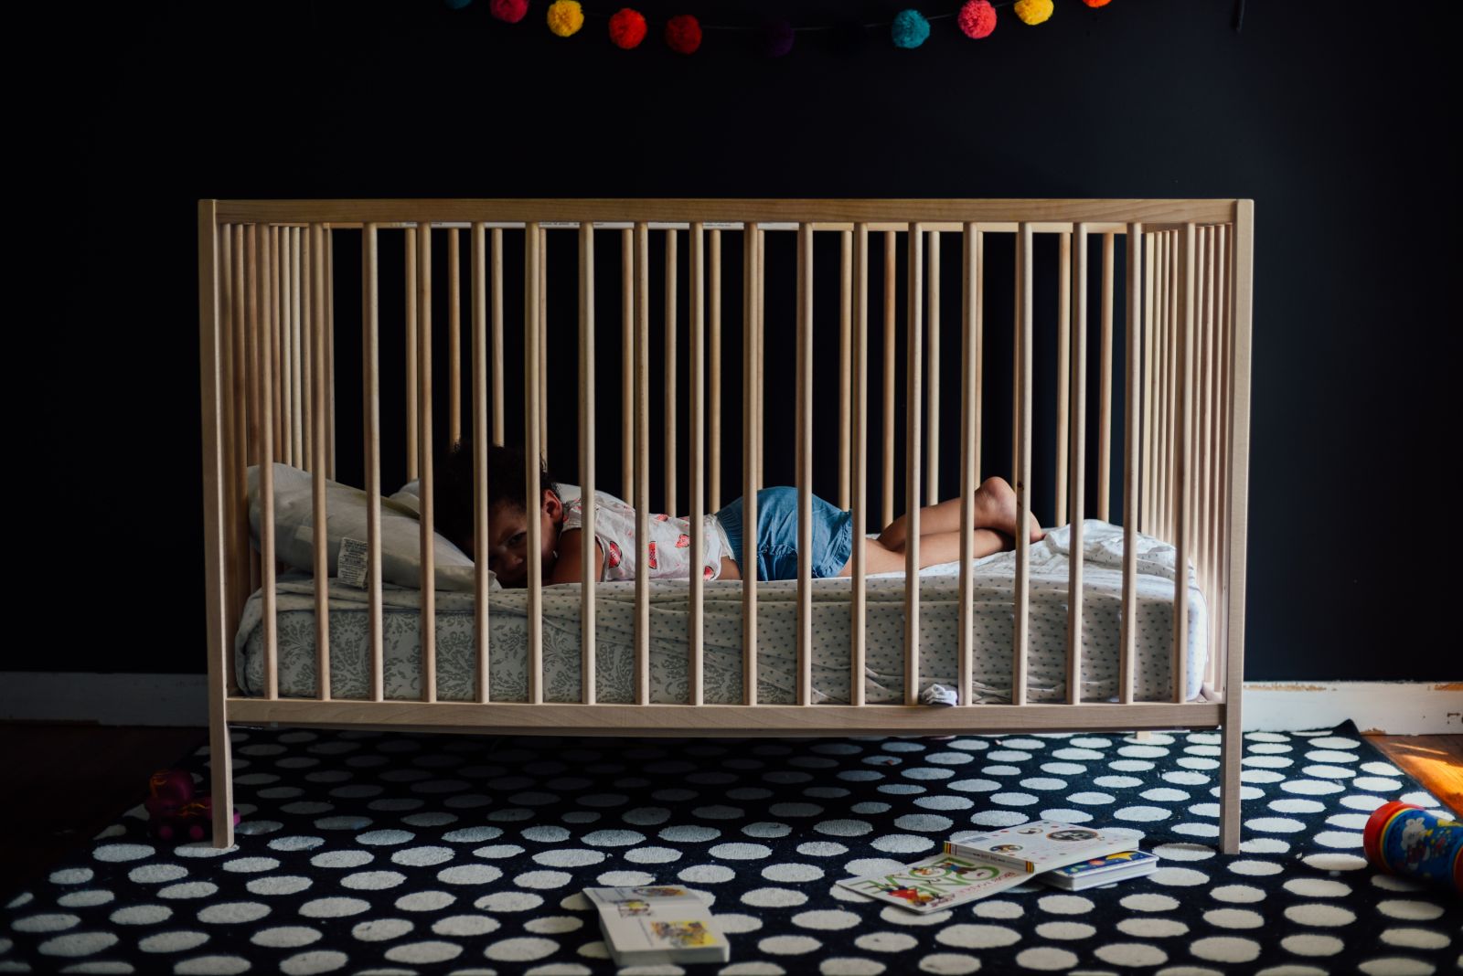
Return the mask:
<svg viewBox="0 0 1463 976">
<path fill-rule="evenodd" d="M 503 586 L 527 586 L 528 576 L 528 506 L 524 504 L 527 457 L 522 447 L 490 446 L 487 457 L 487 565 Z M 477 558 L 473 538 L 473 449 L 455 443 L 436 465 L 436 530 L 451 539 L 468 557 Z M 581 498 L 563 501 L 547 466 L 538 466 L 541 498 L 534 513 L 541 522 L 543 582 L 578 583 L 584 579 L 579 533 L 584 530 Z M 614 495 L 595 491 L 594 514 L 594 579 L 635 579 L 635 508 Z M 974 557 L 1014 548 L 1015 491 L 1002 478 L 986 478 L 974 495 Z M 851 576 L 853 552 L 851 513 L 813 495 L 812 498 L 812 574 L 815 579 Z M 904 539 L 907 516 L 900 516 L 878 539 L 866 545 L 869 573 L 904 570 Z M 1037 542 L 1045 532 L 1030 520 L 1030 539 Z M 705 516 L 705 565 L 708 580 L 739 580 L 746 567 L 743 554 L 742 498 Z M 686 579 L 691 568 L 691 523 L 669 514 L 650 517 L 651 579 Z M 797 579 L 797 489 L 789 487 L 762 488 L 756 492 L 756 579 Z M 960 560 L 960 498 L 949 498 L 919 511 L 920 568 Z"/>
</svg>

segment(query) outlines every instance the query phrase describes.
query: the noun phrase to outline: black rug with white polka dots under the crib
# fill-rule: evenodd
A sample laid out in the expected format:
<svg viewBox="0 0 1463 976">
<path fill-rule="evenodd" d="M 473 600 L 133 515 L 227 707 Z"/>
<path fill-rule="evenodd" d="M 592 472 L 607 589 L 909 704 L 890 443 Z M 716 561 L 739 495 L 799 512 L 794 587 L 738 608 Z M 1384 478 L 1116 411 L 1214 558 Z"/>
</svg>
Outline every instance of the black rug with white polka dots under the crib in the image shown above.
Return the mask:
<svg viewBox="0 0 1463 976">
<path fill-rule="evenodd" d="M 680 882 L 732 961 L 622 973 L 1457 972 L 1463 903 L 1374 871 L 1366 815 L 1444 814 L 1353 723 L 1245 736 L 1217 852 L 1216 732 L 613 739 L 234 729 L 238 843 L 127 811 L 0 912 L 0 972 L 613 973 L 590 885 Z M 181 761 L 206 776 L 206 748 Z M 206 785 L 206 779 L 203 779 Z M 1160 855 L 914 915 L 835 884 L 957 830 L 1052 818 Z M 7 893 L 9 894 L 9 893 Z"/>
</svg>

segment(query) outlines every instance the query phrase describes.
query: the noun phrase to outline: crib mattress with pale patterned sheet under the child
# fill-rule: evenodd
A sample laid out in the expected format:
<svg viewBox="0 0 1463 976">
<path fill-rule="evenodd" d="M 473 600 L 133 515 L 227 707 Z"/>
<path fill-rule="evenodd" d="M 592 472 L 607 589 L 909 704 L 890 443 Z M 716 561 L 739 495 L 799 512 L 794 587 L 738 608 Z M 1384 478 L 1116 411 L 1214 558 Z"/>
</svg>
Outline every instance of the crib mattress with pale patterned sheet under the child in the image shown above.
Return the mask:
<svg viewBox="0 0 1463 976">
<path fill-rule="evenodd" d="M 1115 700 L 1122 609 L 1122 529 L 1087 520 L 1084 529 L 1083 698 Z M 1031 546 L 1030 644 L 1027 700 L 1067 697 L 1067 567 L 1071 529 L 1062 526 Z M 1173 546 L 1138 536 L 1138 627 L 1134 695 L 1170 700 Z M 973 564 L 974 675 L 970 700 L 1011 700 L 1012 582 L 1015 554 L 998 552 Z M 868 577 L 865 700 L 904 701 L 904 584 L 901 573 Z M 279 695 L 316 694 L 315 580 L 287 573 L 277 580 Z M 650 593 L 650 672 L 652 703 L 688 701 L 688 584 L 654 580 Z M 489 682 L 496 701 L 528 697 L 527 592 L 497 590 L 489 605 Z M 704 589 L 704 700 L 742 701 L 742 583 L 711 580 Z M 920 687 L 958 687 L 960 565 L 920 571 Z M 421 697 L 420 593 L 385 586 L 383 672 L 386 698 Z M 815 703 L 849 701 L 847 579 L 813 580 Z M 338 698 L 366 698 L 370 690 L 367 592 L 331 580 L 331 691 Z M 436 593 L 437 698 L 477 697 L 474 595 Z M 758 586 L 758 700 L 793 704 L 797 691 L 797 583 Z M 1200 694 L 1207 657 L 1208 615 L 1194 570 L 1188 571 L 1188 688 Z M 635 675 L 635 584 L 601 583 L 597 589 L 595 685 L 604 703 L 632 703 Z M 263 601 L 253 593 L 234 638 L 240 693 L 263 694 Z M 578 701 L 581 685 L 579 584 L 543 589 L 543 697 Z M 966 695 L 963 694 L 964 700 Z"/>
</svg>

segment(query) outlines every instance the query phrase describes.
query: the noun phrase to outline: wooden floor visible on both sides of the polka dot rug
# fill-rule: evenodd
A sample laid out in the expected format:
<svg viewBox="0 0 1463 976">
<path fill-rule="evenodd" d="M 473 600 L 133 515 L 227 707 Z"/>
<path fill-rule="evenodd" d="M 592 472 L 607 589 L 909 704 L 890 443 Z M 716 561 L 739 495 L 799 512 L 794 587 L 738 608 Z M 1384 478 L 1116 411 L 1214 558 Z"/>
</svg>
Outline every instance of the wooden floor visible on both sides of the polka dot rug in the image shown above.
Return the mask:
<svg viewBox="0 0 1463 976">
<path fill-rule="evenodd" d="M 1463 735 L 1368 735 L 1454 814 L 1463 812 Z M 85 847 L 148 793 L 148 777 L 208 742 L 208 729 L 0 723 L 0 903 Z"/>
</svg>

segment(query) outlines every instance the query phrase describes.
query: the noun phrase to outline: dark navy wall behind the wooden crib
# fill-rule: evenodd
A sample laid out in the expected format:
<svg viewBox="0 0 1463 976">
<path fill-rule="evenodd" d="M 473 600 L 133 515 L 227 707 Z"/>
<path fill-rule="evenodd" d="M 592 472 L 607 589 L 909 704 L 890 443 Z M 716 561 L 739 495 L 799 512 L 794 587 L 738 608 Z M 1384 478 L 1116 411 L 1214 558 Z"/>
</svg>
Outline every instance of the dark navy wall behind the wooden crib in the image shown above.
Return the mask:
<svg viewBox="0 0 1463 976">
<path fill-rule="evenodd" d="M 730 23 L 748 4 L 688 6 Z M 879 20 L 898 6 L 781 9 Z M 22 544 L 42 555 L 20 609 L 61 631 L 44 653 L 7 641 L 4 668 L 205 668 L 199 197 L 1249 197 L 1246 678 L 1457 678 L 1435 602 L 1453 546 L 1432 527 L 1451 511 L 1457 443 L 1444 7 L 1429 26 L 1251 3 L 1236 32 L 1227 0 L 1058 0 L 1040 28 L 1002 10 L 980 42 L 949 20 L 917 51 L 879 34 L 834 51 L 803 34 L 780 61 L 724 34 L 676 56 L 654 29 L 623 53 L 603 19 L 559 39 L 543 7 L 518 26 L 484 0 L 459 13 L 430 0 L 76 13 L 59 37 L 80 83 L 47 95 L 34 143 L 64 218 L 31 228 L 32 283 L 54 311 L 18 349 L 42 384 L 22 435 L 45 459 L 25 494 Z M 679 12 L 642 9 L 652 25 Z M 348 266 L 354 245 L 341 247 Z M 569 247 L 554 251 L 565 269 Z M 568 292 L 550 308 L 572 321 Z M 1008 466 L 1002 437 L 993 428 L 988 470 Z M 774 481 L 791 478 L 790 450 Z M 1046 450 L 1039 482 L 1043 465 Z M 600 476 L 617 484 L 617 462 Z M 834 478 L 824 451 L 818 489 Z M 1036 503 L 1050 520 L 1049 492 Z M 1431 568 L 1415 576 L 1413 563 Z"/>
</svg>

